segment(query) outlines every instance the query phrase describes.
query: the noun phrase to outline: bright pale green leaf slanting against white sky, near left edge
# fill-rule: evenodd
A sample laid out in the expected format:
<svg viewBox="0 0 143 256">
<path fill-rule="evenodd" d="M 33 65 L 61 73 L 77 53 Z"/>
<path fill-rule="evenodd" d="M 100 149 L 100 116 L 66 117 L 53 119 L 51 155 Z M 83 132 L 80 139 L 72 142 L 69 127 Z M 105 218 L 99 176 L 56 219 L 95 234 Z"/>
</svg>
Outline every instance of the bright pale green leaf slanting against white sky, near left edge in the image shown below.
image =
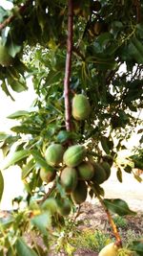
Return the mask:
<svg viewBox="0 0 143 256">
<path fill-rule="evenodd" d="M 27 150 L 14 151 L 13 153 L 10 152 L 4 159 L 4 162 L 2 163 L 2 169 L 9 168 L 11 165 L 16 164 L 18 161 L 27 157 L 29 154 L 30 151 Z"/>
</svg>

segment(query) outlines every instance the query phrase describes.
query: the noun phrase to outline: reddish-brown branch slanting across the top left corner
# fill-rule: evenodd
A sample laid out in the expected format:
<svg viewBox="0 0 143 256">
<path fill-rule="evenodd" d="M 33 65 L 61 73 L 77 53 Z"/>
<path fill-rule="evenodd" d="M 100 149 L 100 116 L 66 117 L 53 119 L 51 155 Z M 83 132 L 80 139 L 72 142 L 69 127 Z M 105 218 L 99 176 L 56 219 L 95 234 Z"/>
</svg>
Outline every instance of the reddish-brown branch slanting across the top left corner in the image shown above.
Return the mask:
<svg viewBox="0 0 143 256">
<path fill-rule="evenodd" d="M 18 12 L 20 14 L 23 13 L 27 9 L 27 7 L 29 6 L 30 3 L 31 3 L 31 0 L 28 0 L 25 5 L 19 7 Z M 5 29 L 10 24 L 10 22 L 12 22 L 15 19 L 15 17 L 16 17 L 16 15 L 12 14 L 3 23 L 0 23 L 0 31 Z"/>
</svg>

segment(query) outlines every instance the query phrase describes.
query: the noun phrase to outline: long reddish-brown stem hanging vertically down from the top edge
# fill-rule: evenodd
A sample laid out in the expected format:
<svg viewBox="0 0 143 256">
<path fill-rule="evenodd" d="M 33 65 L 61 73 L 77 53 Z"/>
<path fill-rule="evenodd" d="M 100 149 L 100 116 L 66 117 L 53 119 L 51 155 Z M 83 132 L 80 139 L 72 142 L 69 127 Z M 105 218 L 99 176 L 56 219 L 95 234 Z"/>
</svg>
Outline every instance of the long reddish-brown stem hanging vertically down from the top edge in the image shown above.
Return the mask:
<svg viewBox="0 0 143 256">
<path fill-rule="evenodd" d="M 72 70 L 72 27 L 73 27 L 73 8 L 72 0 L 68 0 L 68 38 L 67 38 L 67 57 L 64 79 L 64 96 L 65 96 L 65 118 L 66 129 L 72 130 L 71 123 L 71 102 L 70 102 L 70 78 Z"/>
</svg>

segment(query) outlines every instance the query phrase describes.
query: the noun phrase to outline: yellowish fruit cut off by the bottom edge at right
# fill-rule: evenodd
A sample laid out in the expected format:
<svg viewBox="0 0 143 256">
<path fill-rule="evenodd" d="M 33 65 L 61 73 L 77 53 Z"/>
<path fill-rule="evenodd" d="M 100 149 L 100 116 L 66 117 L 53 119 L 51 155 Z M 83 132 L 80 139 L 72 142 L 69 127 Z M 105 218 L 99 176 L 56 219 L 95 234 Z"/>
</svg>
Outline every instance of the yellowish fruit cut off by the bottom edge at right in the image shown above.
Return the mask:
<svg viewBox="0 0 143 256">
<path fill-rule="evenodd" d="M 118 247 L 114 244 L 107 244 L 98 254 L 98 256 L 117 256 Z"/>
</svg>

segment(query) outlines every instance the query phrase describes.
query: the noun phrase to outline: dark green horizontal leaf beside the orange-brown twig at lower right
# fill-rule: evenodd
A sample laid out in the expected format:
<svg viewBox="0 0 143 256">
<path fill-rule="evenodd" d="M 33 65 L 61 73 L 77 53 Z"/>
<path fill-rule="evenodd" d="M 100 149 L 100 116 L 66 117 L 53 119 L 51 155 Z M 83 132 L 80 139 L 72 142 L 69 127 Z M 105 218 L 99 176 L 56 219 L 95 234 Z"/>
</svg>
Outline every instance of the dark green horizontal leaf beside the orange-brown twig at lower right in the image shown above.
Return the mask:
<svg viewBox="0 0 143 256">
<path fill-rule="evenodd" d="M 136 215 L 135 212 L 130 210 L 126 201 L 116 198 L 116 199 L 104 199 L 103 200 L 106 207 L 112 211 L 112 213 L 118 214 L 119 216 L 124 215 Z"/>
</svg>

